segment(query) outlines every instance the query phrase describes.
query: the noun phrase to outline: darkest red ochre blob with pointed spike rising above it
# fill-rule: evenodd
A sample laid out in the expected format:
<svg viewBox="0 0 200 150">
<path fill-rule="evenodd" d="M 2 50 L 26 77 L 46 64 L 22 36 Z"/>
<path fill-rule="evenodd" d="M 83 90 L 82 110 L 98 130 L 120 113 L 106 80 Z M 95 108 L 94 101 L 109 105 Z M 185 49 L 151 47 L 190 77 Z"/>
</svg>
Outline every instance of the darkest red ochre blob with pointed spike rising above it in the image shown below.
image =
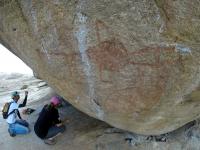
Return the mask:
<svg viewBox="0 0 200 150">
<path fill-rule="evenodd" d="M 95 22 L 95 32 L 97 46 L 89 47 L 87 54 L 90 60 L 97 65 L 100 74 L 100 80 L 105 81 L 102 77 L 103 71 L 119 71 L 123 68 L 128 58 L 128 51 L 122 42 L 115 38 L 116 35 L 101 20 Z M 107 40 L 103 40 L 101 34 L 108 35 Z"/>
</svg>

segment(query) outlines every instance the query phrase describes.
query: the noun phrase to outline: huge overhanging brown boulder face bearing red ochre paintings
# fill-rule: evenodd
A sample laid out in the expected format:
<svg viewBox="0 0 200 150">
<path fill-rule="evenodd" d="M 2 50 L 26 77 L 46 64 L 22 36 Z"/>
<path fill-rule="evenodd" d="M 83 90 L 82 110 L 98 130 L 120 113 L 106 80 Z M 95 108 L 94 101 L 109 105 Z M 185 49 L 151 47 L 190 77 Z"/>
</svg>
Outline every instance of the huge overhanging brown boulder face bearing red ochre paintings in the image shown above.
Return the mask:
<svg viewBox="0 0 200 150">
<path fill-rule="evenodd" d="M 200 114 L 198 0 L 0 0 L 0 42 L 79 110 L 141 134 Z"/>
</svg>

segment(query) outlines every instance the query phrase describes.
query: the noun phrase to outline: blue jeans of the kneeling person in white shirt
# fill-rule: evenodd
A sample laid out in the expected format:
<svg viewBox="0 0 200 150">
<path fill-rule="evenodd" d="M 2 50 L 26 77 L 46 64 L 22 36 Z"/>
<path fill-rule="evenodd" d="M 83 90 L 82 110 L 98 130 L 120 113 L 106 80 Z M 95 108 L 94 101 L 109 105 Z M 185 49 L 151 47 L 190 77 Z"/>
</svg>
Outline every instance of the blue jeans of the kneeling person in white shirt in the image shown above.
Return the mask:
<svg viewBox="0 0 200 150">
<path fill-rule="evenodd" d="M 30 132 L 29 124 L 25 120 L 16 120 L 15 123 L 9 124 L 9 132 L 12 134 L 27 134 Z"/>
</svg>

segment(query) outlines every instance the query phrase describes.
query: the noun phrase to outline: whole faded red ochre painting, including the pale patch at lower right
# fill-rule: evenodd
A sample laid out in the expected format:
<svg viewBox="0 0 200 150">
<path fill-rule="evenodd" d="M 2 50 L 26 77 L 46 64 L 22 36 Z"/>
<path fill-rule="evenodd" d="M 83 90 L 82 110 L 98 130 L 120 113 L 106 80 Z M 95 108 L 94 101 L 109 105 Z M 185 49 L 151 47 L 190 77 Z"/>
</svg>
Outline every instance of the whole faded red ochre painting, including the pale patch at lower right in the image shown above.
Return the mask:
<svg viewBox="0 0 200 150">
<path fill-rule="evenodd" d="M 115 73 L 119 76 L 121 72 L 125 72 L 124 68 L 129 68 L 132 72 L 132 76 L 124 78 L 128 82 L 123 87 L 119 81 L 115 81 L 112 89 L 107 89 L 112 93 L 108 92 L 104 107 L 113 111 L 121 108 L 120 110 L 125 113 L 133 111 L 134 108 L 137 108 L 138 113 L 140 110 L 144 112 L 151 109 L 163 95 L 170 74 L 183 65 L 181 54 L 175 51 L 173 45 L 149 45 L 130 52 L 102 21 L 97 21 L 96 26 L 98 44 L 90 47 L 87 54 L 99 70 L 100 81 L 105 81 L 104 71 L 112 72 L 112 76 Z M 109 38 L 104 37 L 102 40 L 102 30 L 109 34 Z M 109 81 L 112 81 L 112 77 Z M 121 103 L 122 99 L 123 103 Z M 133 110 L 127 110 L 127 106 L 130 105 L 133 106 Z"/>
</svg>

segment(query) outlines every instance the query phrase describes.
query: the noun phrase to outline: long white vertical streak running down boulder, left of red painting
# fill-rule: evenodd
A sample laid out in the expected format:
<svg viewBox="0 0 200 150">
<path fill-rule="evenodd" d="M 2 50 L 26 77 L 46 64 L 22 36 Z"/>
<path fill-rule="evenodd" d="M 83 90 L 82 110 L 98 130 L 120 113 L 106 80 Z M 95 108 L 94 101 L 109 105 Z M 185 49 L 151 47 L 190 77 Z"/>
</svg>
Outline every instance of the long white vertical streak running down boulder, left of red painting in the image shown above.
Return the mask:
<svg viewBox="0 0 200 150">
<path fill-rule="evenodd" d="M 88 83 L 88 95 L 90 98 L 90 105 L 93 111 L 96 112 L 96 115 L 99 119 L 103 120 L 104 112 L 101 107 L 95 103 L 96 94 L 95 94 L 95 79 L 92 76 L 92 67 L 88 55 L 86 53 L 87 47 L 87 35 L 89 29 L 87 28 L 87 16 L 82 14 L 81 11 L 84 10 L 85 1 L 80 0 L 76 8 L 76 20 L 75 25 L 77 31 L 75 32 L 75 37 L 78 40 L 79 52 L 81 55 L 81 60 L 83 63 L 83 71 L 86 75 L 86 80 Z"/>
</svg>

